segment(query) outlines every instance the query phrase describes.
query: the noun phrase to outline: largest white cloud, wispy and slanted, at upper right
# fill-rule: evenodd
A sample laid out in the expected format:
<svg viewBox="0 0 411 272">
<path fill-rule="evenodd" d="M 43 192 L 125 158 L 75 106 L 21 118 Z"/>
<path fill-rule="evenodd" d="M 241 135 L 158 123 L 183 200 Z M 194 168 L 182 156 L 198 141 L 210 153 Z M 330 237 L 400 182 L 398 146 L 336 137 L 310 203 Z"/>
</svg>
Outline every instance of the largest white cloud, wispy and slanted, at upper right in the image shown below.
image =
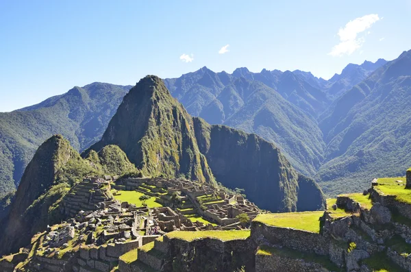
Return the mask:
<svg viewBox="0 0 411 272">
<path fill-rule="evenodd" d="M 345 27 L 340 28 L 338 36 L 340 43 L 335 45 L 328 55 L 333 57 L 351 55 L 354 51 L 362 47 L 365 42 L 364 37 L 358 37 L 366 29 L 369 29 L 375 22 L 379 21 L 378 14 L 369 14 L 349 21 Z M 369 32 L 371 33 L 371 32 Z"/>
</svg>

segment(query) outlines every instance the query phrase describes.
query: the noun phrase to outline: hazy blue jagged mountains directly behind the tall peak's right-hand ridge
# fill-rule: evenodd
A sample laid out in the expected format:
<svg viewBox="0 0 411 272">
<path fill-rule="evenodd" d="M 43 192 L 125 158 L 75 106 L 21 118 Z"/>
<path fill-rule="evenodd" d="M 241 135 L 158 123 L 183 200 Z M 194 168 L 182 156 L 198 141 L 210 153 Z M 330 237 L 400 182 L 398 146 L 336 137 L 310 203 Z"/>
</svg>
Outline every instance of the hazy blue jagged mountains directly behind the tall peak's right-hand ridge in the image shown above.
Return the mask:
<svg viewBox="0 0 411 272">
<path fill-rule="evenodd" d="M 203 67 L 164 82 L 193 116 L 259 134 L 305 175 L 319 168 L 325 145 L 314 116 L 330 101 L 292 72 L 239 68 L 230 75 Z"/>
</svg>

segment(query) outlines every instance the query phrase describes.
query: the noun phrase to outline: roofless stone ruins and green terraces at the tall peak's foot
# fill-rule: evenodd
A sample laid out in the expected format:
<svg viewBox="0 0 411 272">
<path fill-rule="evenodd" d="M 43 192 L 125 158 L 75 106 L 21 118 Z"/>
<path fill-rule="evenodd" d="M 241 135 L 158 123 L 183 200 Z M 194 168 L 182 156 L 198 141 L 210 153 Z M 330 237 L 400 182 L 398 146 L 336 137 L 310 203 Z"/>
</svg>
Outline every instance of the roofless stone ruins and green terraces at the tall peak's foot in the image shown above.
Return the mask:
<svg viewBox="0 0 411 272">
<path fill-rule="evenodd" d="M 165 178 L 127 178 L 112 185 L 116 189 L 131 189 L 156 197 L 158 203 L 170 205 L 171 196 L 177 192 L 182 206 L 177 210 L 187 217 L 195 214 L 223 226 L 223 230 L 231 230 L 240 223 L 236 217 L 245 213 L 252 220 L 260 210 L 241 195 L 229 195 L 223 190 L 213 188 L 209 184 L 201 184 L 184 179 Z"/>
</svg>

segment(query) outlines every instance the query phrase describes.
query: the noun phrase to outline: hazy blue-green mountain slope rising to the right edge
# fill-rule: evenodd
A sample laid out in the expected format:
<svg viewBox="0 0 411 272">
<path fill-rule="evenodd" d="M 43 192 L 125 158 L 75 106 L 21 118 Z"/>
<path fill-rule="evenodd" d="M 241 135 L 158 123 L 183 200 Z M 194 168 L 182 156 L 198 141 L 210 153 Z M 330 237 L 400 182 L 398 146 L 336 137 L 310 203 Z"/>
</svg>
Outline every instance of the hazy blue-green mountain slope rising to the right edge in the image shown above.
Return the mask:
<svg viewBox="0 0 411 272">
<path fill-rule="evenodd" d="M 410 97 L 411 51 L 340 97 L 334 110 L 338 113 L 320 124 L 327 125 L 329 141 L 328 162 L 319 171 L 323 184 L 362 180 L 360 187 L 375 176 L 403 175 L 411 164 Z"/>
</svg>

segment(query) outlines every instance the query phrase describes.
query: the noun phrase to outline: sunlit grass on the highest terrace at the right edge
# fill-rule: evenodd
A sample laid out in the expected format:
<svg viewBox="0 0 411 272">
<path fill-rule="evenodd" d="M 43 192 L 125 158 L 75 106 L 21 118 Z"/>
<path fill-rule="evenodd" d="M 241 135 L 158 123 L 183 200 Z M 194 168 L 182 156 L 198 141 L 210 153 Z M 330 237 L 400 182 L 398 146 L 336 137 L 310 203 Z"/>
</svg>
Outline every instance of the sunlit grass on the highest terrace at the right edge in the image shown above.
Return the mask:
<svg viewBox="0 0 411 272">
<path fill-rule="evenodd" d="M 402 183 L 395 182 L 402 180 Z M 384 177 L 378 179 L 378 185 L 374 187 L 384 195 L 395 195 L 397 201 L 411 204 L 411 190 L 406 189 L 406 177 Z"/>
</svg>

